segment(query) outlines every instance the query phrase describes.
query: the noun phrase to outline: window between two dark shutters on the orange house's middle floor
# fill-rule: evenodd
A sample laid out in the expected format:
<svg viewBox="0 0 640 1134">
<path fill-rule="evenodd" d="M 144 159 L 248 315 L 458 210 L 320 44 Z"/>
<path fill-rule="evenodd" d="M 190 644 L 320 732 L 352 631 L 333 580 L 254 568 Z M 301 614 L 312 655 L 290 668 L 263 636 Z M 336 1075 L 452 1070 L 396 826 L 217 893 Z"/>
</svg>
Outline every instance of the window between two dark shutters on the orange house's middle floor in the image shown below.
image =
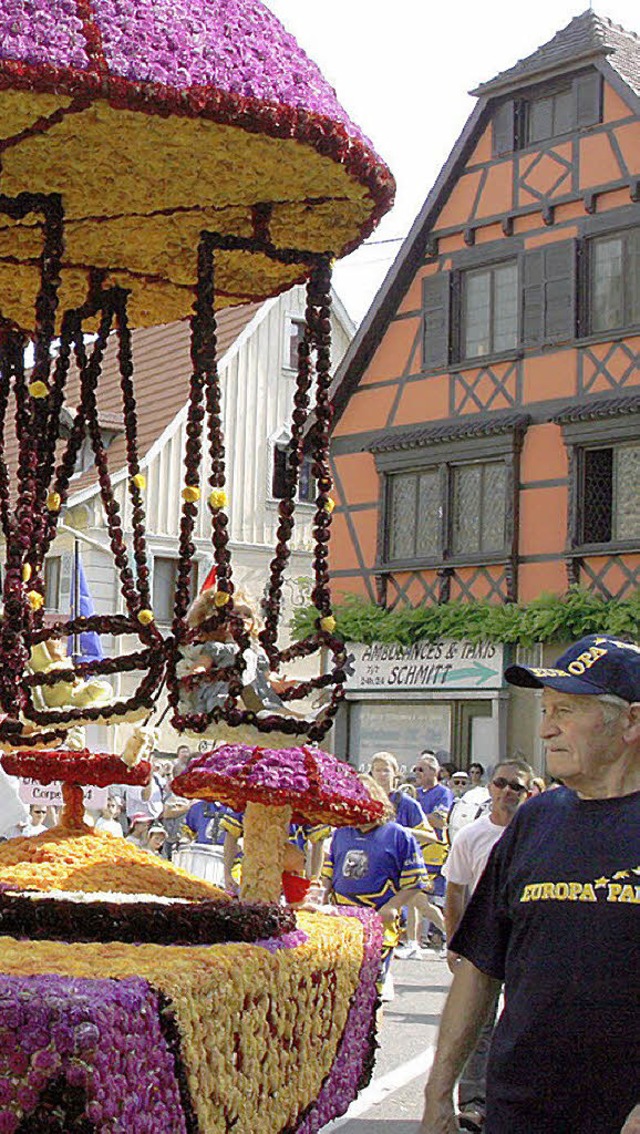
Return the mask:
<svg viewBox="0 0 640 1134">
<path fill-rule="evenodd" d="M 512 350 L 517 345 L 517 266 L 510 261 L 466 272 L 463 282 L 465 358 Z"/>
</svg>

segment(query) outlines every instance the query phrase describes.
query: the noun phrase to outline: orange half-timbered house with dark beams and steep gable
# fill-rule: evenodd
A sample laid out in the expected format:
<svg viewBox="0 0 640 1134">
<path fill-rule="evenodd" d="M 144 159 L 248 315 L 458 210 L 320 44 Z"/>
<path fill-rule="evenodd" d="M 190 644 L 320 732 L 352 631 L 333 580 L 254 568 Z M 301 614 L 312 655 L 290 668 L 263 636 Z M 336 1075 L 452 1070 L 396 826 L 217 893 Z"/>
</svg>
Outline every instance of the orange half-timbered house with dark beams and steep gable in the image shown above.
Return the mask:
<svg viewBox="0 0 640 1134">
<path fill-rule="evenodd" d="M 640 584 L 640 41 L 589 10 L 472 93 L 336 376 L 335 590 L 621 599 Z M 394 738 L 407 762 L 539 758 L 499 643 L 354 652 L 355 759 Z"/>
</svg>

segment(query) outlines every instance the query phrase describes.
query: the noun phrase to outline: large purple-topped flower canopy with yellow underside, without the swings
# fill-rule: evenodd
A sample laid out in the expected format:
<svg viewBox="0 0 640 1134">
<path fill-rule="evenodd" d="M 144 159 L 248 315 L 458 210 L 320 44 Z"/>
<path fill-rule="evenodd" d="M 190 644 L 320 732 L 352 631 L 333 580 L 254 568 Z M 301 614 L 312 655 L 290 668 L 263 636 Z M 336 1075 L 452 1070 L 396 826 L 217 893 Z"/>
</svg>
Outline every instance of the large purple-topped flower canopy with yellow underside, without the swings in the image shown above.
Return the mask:
<svg viewBox="0 0 640 1134">
<path fill-rule="evenodd" d="M 130 291 L 136 327 L 191 313 L 202 229 L 281 249 L 357 245 L 394 183 L 318 67 L 259 0 L 2 0 L 1 192 L 60 194 L 60 306 L 87 272 Z M 42 228 L 0 227 L 5 319 L 33 328 Z M 42 203 L 40 203 L 42 208 Z M 309 274 L 233 244 L 217 306 Z"/>
</svg>

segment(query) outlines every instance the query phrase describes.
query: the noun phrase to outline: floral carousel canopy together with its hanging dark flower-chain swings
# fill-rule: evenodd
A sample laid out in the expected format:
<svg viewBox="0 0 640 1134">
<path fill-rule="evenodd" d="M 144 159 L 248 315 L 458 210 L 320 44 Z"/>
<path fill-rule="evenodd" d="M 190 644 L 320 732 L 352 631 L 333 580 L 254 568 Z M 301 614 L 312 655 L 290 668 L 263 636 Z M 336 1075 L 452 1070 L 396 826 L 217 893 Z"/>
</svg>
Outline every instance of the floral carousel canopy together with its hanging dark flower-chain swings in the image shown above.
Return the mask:
<svg viewBox="0 0 640 1134">
<path fill-rule="evenodd" d="M 328 575 L 330 264 L 364 239 L 390 206 L 388 169 L 315 65 L 259 0 L 0 0 L 0 134 L 2 738 L 37 745 L 64 737 L 78 721 L 140 717 L 166 682 L 180 730 L 204 733 L 224 720 L 231 728 L 321 739 L 342 696 L 346 660 L 334 635 Z M 216 311 L 301 280 L 308 281 L 306 330 L 258 644 L 234 603 Z M 193 369 L 179 562 L 174 624 L 163 636 L 150 594 L 130 328 L 190 314 Z M 94 332 L 90 344 L 86 331 Z M 100 429 L 101 366 L 110 337 L 120 371 L 130 549 Z M 35 362 L 27 373 L 28 340 Z M 69 406 L 71 371 L 78 376 L 77 406 Z M 11 418 L 14 464 L 7 457 Z M 305 432 L 318 485 L 312 562 L 318 619 L 308 640 L 280 649 L 281 590 Z M 44 559 L 87 440 L 121 609 L 45 623 Z M 195 623 L 190 578 L 201 508 L 210 515 L 216 589 Z M 74 670 L 56 643 L 89 631 L 127 635 L 135 648 Z M 205 696 L 203 667 L 190 669 L 185 659 L 213 640 L 220 648 L 208 645 L 205 679 L 217 692 Z M 330 671 L 281 683 L 277 695 L 264 692 L 262 670 L 277 675 L 293 658 L 321 648 Z M 47 665 L 36 663 L 37 655 L 47 657 Z M 135 693 L 110 699 L 101 678 L 125 670 L 141 675 Z M 71 704 L 62 691 L 78 693 L 78 680 L 85 683 L 83 696 Z M 296 711 L 296 700 L 322 688 L 321 712 Z"/>
</svg>

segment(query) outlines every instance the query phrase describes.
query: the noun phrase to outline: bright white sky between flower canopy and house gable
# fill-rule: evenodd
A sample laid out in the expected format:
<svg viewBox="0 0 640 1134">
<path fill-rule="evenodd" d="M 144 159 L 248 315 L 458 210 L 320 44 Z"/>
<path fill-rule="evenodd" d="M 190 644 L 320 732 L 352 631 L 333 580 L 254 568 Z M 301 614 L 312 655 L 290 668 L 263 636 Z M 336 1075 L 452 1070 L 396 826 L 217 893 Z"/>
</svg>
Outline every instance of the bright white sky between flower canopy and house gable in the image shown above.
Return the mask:
<svg viewBox="0 0 640 1134">
<path fill-rule="evenodd" d="M 588 0 L 264 0 L 336 87 L 397 181 L 396 204 L 336 268 L 335 285 L 360 321 L 474 100 L 466 93 L 546 43 Z M 638 0 L 593 5 L 640 33 Z"/>
</svg>

